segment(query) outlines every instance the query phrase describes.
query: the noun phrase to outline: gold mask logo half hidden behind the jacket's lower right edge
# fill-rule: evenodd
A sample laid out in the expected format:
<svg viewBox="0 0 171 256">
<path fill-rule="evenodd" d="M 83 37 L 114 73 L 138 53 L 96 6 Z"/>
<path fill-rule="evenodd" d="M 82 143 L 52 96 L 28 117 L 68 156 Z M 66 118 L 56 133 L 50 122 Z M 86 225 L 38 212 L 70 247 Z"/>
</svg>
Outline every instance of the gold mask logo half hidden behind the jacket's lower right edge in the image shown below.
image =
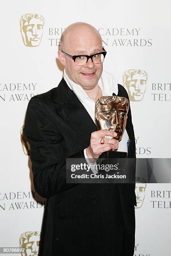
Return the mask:
<svg viewBox="0 0 171 256">
<path fill-rule="evenodd" d="M 140 208 L 143 205 L 144 198 L 145 198 L 145 189 L 147 187 L 147 184 L 145 183 L 145 179 L 136 177 L 135 182 L 142 182 L 142 183 L 136 183 L 135 184 L 135 195 L 136 195 L 136 201 L 137 206 L 136 208 Z"/>
</svg>

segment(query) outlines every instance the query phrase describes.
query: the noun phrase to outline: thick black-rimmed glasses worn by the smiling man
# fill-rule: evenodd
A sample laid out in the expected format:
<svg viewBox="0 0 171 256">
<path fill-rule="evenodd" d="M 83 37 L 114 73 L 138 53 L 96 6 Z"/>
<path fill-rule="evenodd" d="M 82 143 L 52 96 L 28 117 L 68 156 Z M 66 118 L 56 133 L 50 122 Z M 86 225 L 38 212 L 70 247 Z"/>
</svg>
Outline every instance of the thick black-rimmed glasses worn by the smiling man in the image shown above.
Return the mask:
<svg viewBox="0 0 171 256">
<path fill-rule="evenodd" d="M 102 52 L 98 52 L 98 53 L 92 54 L 92 55 L 74 55 L 74 56 L 72 56 L 70 54 L 67 54 L 64 51 L 61 51 L 61 52 L 63 54 L 65 54 L 66 56 L 68 56 L 69 58 L 73 59 L 77 66 L 85 65 L 89 59 L 91 59 L 92 62 L 94 62 L 95 64 L 100 64 L 104 61 L 105 56 L 107 54 L 107 51 L 105 51 L 104 48 L 103 48 Z"/>
</svg>

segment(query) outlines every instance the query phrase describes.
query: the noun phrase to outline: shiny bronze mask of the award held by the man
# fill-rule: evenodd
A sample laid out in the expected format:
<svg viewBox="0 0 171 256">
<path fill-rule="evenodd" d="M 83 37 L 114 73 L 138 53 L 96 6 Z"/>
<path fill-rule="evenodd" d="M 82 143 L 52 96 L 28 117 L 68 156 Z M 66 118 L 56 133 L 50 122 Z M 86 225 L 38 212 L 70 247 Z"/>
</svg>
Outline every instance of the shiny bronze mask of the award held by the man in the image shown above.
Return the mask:
<svg viewBox="0 0 171 256">
<path fill-rule="evenodd" d="M 95 105 L 95 120 L 98 130 L 110 130 L 117 133 L 117 140 L 121 140 L 125 131 L 129 101 L 124 97 L 103 96 Z M 110 136 L 106 136 L 111 138 Z"/>
</svg>

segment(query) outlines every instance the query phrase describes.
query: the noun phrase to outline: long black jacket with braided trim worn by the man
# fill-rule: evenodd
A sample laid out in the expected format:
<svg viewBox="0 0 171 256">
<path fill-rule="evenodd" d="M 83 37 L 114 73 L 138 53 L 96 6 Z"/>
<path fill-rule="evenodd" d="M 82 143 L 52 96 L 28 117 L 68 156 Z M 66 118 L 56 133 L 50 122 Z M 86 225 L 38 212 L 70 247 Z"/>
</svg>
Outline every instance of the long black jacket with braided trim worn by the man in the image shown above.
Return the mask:
<svg viewBox="0 0 171 256">
<path fill-rule="evenodd" d="M 128 98 L 123 86 L 118 89 L 118 96 Z M 128 157 L 135 158 L 130 110 L 126 130 Z M 66 184 L 66 158 L 84 158 L 93 131 L 96 125 L 64 78 L 28 103 L 23 133 L 31 147 L 34 187 L 47 197 L 41 256 L 134 253 L 135 184 Z"/>
</svg>

